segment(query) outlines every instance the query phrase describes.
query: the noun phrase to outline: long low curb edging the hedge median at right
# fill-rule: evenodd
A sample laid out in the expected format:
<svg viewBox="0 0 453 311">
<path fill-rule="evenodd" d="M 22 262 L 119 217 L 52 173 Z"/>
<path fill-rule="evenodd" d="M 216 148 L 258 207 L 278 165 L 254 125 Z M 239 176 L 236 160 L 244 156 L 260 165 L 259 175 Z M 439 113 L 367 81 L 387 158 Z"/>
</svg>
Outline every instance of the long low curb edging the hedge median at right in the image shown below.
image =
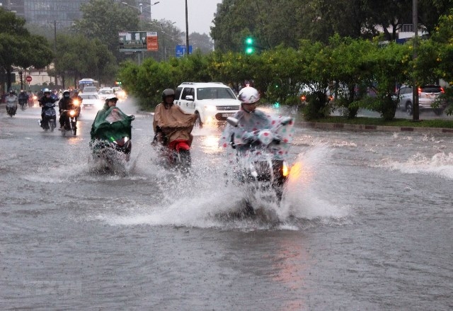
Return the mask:
<svg viewBox="0 0 453 311">
<path fill-rule="evenodd" d="M 400 126 L 383 125 L 362 125 L 345 123 L 316 123 L 316 122 L 297 122 L 297 125 L 304 128 L 318 128 L 323 130 L 355 130 L 365 132 L 428 132 L 428 133 L 448 133 L 453 134 L 452 128 L 411 128 Z"/>
</svg>

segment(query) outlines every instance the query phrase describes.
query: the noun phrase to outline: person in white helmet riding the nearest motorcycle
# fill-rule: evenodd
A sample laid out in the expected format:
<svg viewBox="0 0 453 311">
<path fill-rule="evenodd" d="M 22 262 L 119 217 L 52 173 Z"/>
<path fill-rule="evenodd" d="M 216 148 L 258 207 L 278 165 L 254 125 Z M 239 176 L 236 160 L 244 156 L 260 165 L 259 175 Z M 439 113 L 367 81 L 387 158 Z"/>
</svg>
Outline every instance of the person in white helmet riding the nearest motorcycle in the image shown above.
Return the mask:
<svg viewBox="0 0 453 311">
<path fill-rule="evenodd" d="M 247 141 L 253 137 L 254 131 L 267 129 L 272 126 L 271 116 L 256 109 L 256 105 L 260 101 L 260 93 L 257 89 L 246 86 L 239 91 L 238 99 L 241 101 L 241 109 L 234 115 L 234 118 L 239 123 L 235 128 L 231 125 L 226 125 L 219 142 L 222 147 L 229 145 L 231 134 L 234 134 L 236 139 Z M 246 148 L 246 145 L 241 148 Z"/>
</svg>

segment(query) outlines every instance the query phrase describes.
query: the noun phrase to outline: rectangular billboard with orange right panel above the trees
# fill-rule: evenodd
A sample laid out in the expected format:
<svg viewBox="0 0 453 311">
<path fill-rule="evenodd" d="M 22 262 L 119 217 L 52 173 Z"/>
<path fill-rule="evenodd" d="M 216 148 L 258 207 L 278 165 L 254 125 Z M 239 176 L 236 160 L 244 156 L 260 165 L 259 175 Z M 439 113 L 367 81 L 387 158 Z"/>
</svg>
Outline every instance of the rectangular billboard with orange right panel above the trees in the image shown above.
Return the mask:
<svg viewBox="0 0 453 311">
<path fill-rule="evenodd" d="M 157 33 L 150 31 L 125 31 L 118 33 L 120 52 L 158 51 Z"/>
</svg>

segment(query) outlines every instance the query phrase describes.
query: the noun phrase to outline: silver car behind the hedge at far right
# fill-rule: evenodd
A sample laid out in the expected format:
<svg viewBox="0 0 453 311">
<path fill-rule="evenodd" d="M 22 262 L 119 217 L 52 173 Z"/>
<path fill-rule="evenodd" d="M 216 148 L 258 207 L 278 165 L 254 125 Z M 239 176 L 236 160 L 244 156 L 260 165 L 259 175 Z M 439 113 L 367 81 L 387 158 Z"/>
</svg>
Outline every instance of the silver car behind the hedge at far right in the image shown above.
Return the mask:
<svg viewBox="0 0 453 311">
<path fill-rule="evenodd" d="M 432 110 L 436 115 L 442 115 L 446 103 L 440 102 L 439 107 L 432 108 L 432 103 L 439 101 L 439 96 L 445 93 L 442 86 L 438 85 L 426 85 L 418 88 L 418 108 L 420 111 Z M 398 92 L 397 92 L 398 94 Z M 408 115 L 412 115 L 412 86 L 401 86 L 399 89 L 399 107 L 406 111 Z"/>
</svg>

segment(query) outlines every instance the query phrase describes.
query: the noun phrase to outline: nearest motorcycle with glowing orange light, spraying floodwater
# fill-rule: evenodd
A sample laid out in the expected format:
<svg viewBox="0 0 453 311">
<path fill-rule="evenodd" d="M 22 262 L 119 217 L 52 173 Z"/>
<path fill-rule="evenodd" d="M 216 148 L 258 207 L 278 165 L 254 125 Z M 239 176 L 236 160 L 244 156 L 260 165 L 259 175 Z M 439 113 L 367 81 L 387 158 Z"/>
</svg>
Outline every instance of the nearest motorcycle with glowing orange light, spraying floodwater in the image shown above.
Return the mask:
<svg viewBox="0 0 453 311">
<path fill-rule="evenodd" d="M 229 125 L 237 128 L 239 120 L 229 117 Z M 234 180 L 246 185 L 253 195 L 263 195 L 263 200 L 280 203 L 289 177 L 287 149 L 292 140 L 291 117 L 280 117 L 270 129 L 246 132 L 239 142 L 236 133 L 229 137 L 229 145 L 236 158 Z M 248 206 L 248 214 L 253 214 Z"/>
</svg>

